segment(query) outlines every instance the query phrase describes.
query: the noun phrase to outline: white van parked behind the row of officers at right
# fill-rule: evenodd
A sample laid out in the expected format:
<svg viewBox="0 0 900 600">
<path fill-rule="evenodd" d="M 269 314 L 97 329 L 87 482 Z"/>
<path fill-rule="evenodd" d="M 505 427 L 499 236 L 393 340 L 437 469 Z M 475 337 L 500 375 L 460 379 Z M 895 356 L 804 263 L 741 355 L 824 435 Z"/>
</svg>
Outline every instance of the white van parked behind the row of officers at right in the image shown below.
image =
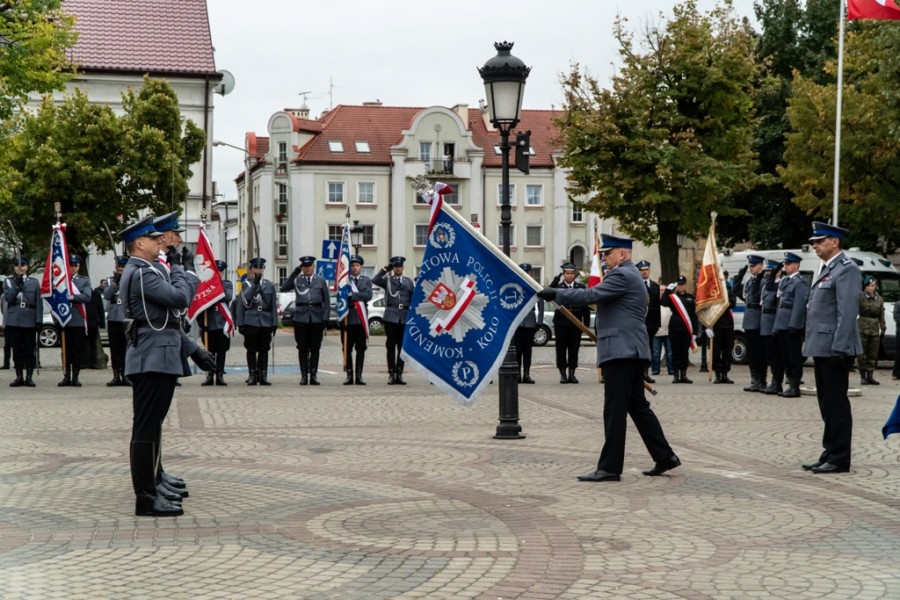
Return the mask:
<svg viewBox="0 0 900 600">
<path fill-rule="evenodd" d="M 800 250 L 746 250 L 743 252 L 731 252 L 725 250 L 719 254 L 719 263 L 722 269 L 728 271 L 729 279 L 733 279 L 737 272 L 747 264 L 747 256 L 758 254 L 767 260 L 781 262 L 785 252 L 793 252 L 803 261 L 800 263 L 800 276 L 807 283 L 812 282 L 813 275 L 819 268 L 820 259 L 812 250 L 812 247 L 804 244 Z M 887 333 L 881 343 L 879 352 L 881 359 L 893 360 L 897 351 L 896 326 L 894 324 L 894 302 L 900 301 L 900 272 L 885 257 L 874 252 L 863 252 L 858 248 L 844 250 L 844 253 L 859 265 L 863 277 L 872 275 L 878 280 L 878 293 L 884 298 L 884 322 Z M 746 281 L 747 275 L 744 276 Z M 860 292 L 862 290 L 860 289 Z M 747 342 L 743 329 L 744 303 L 740 298 L 734 309 L 734 349 L 731 356 L 733 362 L 745 364 L 747 362 Z"/>
</svg>

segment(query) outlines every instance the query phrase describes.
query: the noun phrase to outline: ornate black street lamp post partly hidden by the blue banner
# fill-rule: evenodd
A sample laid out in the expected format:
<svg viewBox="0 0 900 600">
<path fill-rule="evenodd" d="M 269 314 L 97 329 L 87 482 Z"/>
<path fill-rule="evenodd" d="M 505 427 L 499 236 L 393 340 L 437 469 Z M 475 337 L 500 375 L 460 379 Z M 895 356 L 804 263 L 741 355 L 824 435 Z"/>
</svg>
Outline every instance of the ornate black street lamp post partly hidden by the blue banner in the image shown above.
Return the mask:
<svg viewBox="0 0 900 600">
<path fill-rule="evenodd" d="M 512 212 L 509 205 L 509 131 L 519 123 L 522 97 L 525 94 L 525 80 L 531 67 L 510 54 L 512 42 L 495 42 L 497 56 L 478 69 L 484 81 L 487 108 L 491 124 L 500 131 L 500 155 L 502 157 L 502 192 L 500 202 L 500 227 L 503 231 L 503 253 L 509 256 L 510 223 Z M 496 439 L 521 439 L 522 426 L 519 425 L 519 368 L 516 363 L 516 349 L 512 342 L 506 350 L 500 366 L 500 422 L 497 424 Z"/>
</svg>

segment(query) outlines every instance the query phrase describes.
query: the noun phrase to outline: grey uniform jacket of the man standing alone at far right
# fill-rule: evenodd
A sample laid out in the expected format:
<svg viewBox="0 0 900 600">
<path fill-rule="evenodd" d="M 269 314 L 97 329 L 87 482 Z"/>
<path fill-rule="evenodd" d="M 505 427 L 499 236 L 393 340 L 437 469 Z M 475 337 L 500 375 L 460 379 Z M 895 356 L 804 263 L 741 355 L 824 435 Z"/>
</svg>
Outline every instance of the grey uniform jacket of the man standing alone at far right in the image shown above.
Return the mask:
<svg viewBox="0 0 900 600">
<path fill-rule="evenodd" d="M 843 252 L 813 279 L 806 308 L 803 356 L 857 356 L 862 342 L 856 317 L 862 273 Z"/>
</svg>

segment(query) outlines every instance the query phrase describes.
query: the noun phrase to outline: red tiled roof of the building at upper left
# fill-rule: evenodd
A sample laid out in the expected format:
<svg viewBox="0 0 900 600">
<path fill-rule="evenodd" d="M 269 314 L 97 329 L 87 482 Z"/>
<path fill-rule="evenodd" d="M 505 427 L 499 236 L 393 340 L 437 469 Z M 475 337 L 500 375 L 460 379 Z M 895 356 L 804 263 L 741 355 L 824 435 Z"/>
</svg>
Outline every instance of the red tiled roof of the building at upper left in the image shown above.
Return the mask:
<svg viewBox="0 0 900 600">
<path fill-rule="evenodd" d="M 82 71 L 215 75 L 206 0 L 63 0 Z"/>
</svg>

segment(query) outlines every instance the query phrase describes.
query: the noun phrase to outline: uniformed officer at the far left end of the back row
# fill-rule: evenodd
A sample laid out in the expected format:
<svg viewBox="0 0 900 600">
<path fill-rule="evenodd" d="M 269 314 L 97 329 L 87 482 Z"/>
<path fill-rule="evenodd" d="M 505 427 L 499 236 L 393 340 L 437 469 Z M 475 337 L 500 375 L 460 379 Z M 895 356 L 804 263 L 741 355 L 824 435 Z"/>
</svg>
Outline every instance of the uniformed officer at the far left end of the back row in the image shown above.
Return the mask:
<svg viewBox="0 0 900 600">
<path fill-rule="evenodd" d="M 19 256 L 13 260 L 13 276 L 3 282 L 6 300 L 6 337 L 12 347 L 16 379 L 9 387 L 34 387 L 35 336 L 41 326 L 44 301 L 41 284 L 28 276 L 28 259 Z"/>
</svg>

